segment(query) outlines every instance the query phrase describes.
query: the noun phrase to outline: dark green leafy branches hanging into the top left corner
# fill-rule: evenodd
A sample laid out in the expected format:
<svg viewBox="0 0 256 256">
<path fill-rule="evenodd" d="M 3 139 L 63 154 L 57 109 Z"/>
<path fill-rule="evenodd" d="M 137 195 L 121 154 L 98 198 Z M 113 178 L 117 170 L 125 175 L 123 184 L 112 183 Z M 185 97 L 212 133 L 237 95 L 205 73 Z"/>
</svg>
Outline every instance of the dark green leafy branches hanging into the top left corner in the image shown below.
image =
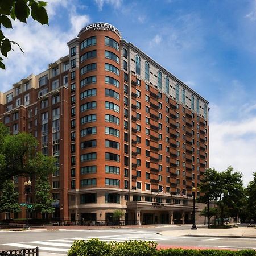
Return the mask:
<svg viewBox="0 0 256 256">
<path fill-rule="evenodd" d="M 27 18 L 30 15 L 42 25 L 48 24 L 46 5 L 46 2 L 38 0 L 0 0 L 0 51 L 3 57 L 7 57 L 7 53 L 13 49 L 13 44 L 18 46 L 19 44 L 6 38 L 2 27 L 13 28 L 11 19 L 18 19 L 20 22 L 27 23 Z M 22 51 L 22 48 L 20 50 Z M 0 57 L 0 68 L 5 69 L 2 57 Z"/>
</svg>

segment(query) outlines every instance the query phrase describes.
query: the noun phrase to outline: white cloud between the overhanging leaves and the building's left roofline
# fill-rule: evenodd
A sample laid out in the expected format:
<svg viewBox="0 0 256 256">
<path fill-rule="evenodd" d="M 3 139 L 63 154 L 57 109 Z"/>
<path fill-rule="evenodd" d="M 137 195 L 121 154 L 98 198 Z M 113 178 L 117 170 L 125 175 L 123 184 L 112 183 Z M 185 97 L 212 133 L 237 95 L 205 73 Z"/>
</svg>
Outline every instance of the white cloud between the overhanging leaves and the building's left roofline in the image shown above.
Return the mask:
<svg viewBox="0 0 256 256">
<path fill-rule="evenodd" d="M 61 30 L 59 24 L 55 26 L 54 19 L 60 8 L 67 13 L 69 29 Z M 20 81 L 34 73 L 44 71 L 47 64 L 68 54 L 67 42 L 75 38 L 80 29 L 89 23 L 88 15 L 77 14 L 76 7 L 67 0 L 49 1 L 47 6 L 50 26 L 42 26 L 28 19 L 28 24 L 16 22 L 14 30 L 6 30 L 5 34 L 11 40 L 18 42 L 24 54 L 14 47 L 8 59 L 5 59 L 6 71 L 0 72 L 0 90 L 11 89 L 14 82 Z"/>
</svg>

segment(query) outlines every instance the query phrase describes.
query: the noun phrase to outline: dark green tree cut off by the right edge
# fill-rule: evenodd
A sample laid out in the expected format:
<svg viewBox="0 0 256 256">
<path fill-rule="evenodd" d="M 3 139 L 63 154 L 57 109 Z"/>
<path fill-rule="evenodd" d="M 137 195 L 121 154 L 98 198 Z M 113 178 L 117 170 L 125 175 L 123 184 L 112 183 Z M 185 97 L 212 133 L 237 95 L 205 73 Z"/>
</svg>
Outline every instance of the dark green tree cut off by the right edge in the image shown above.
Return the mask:
<svg viewBox="0 0 256 256">
<path fill-rule="evenodd" d="M 256 220 L 256 172 L 253 174 L 254 179 L 250 181 L 247 188 L 247 218 Z"/>
</svg>

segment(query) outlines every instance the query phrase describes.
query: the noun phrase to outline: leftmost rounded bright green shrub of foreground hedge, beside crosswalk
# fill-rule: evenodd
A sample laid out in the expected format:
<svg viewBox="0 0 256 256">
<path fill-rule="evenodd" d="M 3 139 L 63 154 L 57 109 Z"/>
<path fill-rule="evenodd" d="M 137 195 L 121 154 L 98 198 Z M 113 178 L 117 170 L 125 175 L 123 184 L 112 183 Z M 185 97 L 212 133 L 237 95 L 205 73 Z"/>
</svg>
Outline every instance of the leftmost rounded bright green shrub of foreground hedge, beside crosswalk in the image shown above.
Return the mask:
<svg viewBox="0 0 256 256">
<path fill-rule="evenodd" d="M 88 241 L 75 240 L 68 251 L 68 256 L 107 256 L 110 255 L 111 245 L 98 238 Z"/>
</svg>

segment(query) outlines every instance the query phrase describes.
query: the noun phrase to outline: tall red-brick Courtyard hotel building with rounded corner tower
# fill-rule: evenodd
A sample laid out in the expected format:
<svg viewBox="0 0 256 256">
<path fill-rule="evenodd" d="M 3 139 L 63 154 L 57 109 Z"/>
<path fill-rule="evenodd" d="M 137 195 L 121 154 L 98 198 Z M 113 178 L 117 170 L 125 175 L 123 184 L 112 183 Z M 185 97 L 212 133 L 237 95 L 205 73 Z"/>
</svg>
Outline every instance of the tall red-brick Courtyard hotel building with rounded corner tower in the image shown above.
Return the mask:
<svg viewBox="0 0 256 256">
<path fill-rule="evenodd" d="M 122 210 L 126 224 L 190 222 L 192 187 L 209 167 L 208 101 L 110 24 L 67 44 L 68 56 L 0 93 L 10 133 L 31 133 L 57 159 L 53 217 L 108 224 Z M 24 179 L 14 183 L 24 202 Z"/>
</svg>

